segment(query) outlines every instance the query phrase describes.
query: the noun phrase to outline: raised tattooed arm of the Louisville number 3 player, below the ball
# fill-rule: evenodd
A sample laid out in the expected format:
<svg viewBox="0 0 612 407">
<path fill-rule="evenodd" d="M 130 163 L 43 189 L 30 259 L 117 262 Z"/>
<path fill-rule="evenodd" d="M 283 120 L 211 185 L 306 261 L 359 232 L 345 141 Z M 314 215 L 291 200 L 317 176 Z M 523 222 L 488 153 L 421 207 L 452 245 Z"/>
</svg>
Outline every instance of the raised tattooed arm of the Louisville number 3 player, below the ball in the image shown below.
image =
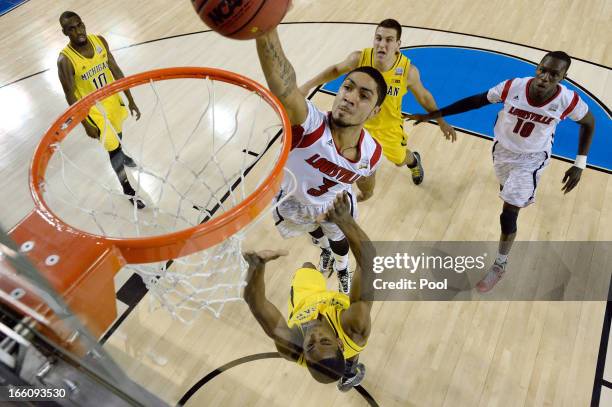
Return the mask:
<svg viewBox="0 0 612 407">
<path fill-rule="evenodd" d="M 308 116 L 306 99 L 298 89 L 295 70 L 285 56 L 276 28 L 257 37 L 255 42 L 268 87 L 287 110 L 291 124 L 304 123 Z"/>
</svg>

